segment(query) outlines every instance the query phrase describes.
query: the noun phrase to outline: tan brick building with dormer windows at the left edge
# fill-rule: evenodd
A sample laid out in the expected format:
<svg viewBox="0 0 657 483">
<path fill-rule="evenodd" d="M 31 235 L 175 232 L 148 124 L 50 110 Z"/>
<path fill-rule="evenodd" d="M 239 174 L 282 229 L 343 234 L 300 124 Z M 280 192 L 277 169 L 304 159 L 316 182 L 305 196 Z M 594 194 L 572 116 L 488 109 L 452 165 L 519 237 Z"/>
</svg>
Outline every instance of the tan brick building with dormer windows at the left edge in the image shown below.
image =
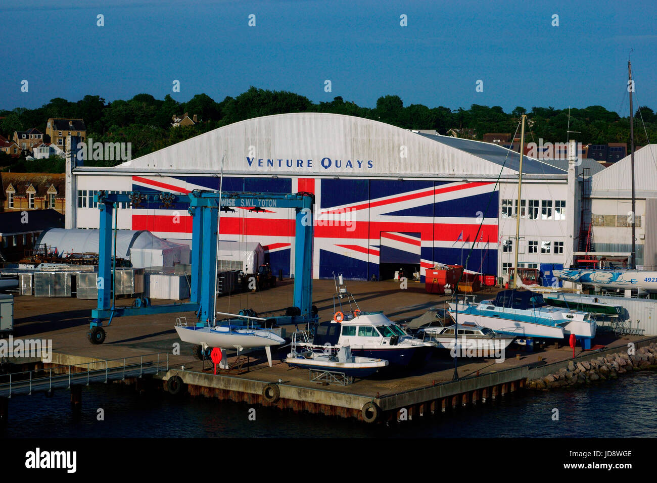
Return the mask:
<svg viewBox="0 0 657 483">
<path fill-rule="evenodd" d="M 66 211 L 66 175 L 64 173 L 0 173 L 1 211 Z"/>
</svg>

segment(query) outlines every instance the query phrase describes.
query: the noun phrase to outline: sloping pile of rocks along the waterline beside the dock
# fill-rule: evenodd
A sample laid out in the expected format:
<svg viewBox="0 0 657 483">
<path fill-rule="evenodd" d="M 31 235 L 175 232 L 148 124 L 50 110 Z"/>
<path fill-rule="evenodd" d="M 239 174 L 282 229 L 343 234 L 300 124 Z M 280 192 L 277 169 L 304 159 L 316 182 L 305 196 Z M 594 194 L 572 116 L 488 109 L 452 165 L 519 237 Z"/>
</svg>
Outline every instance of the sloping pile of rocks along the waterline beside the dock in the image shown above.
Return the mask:
<svg viewBox="0 0 657 483">
<path fill-rule="evenodd" d="M 631 356 L 625 352 L 614 352 L 588 361 L 572 360 L 555 374 L 530 380 L 530 389 L 553 389 L 564 386 L 586 384 L 596 380 L 616 379 L 629 371 L 657 368 L 657 343 L 644 346 Z"/>
</svg>

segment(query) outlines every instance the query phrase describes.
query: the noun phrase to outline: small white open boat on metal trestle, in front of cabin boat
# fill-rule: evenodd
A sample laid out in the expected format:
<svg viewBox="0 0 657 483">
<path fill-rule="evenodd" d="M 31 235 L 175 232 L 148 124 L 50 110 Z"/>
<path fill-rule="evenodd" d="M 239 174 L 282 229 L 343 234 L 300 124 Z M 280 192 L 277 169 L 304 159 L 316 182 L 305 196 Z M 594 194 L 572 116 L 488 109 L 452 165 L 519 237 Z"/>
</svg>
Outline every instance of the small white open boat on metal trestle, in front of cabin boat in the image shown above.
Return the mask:
<svg viewBox="0 0 657 483">
<path fill-rule="evenodd" d="M 283 362 L 292 367 L 343 373 L 346 376 L 361 378 L 371 376 L 388 365 L 385 359 L 354 356 L 349 346 L 316 346 L 310 341 L 306 331 L 292 334 L 290 353 Z"/>
</svg>

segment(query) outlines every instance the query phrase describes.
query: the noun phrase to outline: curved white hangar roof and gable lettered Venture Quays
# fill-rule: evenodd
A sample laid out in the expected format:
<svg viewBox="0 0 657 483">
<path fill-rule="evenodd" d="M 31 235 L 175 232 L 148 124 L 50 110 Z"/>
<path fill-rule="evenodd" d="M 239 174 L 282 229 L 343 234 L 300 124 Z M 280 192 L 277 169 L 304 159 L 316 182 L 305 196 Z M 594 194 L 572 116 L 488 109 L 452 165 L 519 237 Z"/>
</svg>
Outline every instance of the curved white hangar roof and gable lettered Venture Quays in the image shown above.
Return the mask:
<svg viewBox="0 0 657 483">
<path fill-rule="evenodd" d="M 382 122 L 318 112 L 252 118 L 181 141 L 114 168 L 81 172 L 244 175 L 517 177 L 514 151 L 480 141 L 426 135 Z M 502 160 L 507 158 L 507 164 Z M 566 170 L 525 158 L 524 172 L 566 177 Z"/>
</svg>

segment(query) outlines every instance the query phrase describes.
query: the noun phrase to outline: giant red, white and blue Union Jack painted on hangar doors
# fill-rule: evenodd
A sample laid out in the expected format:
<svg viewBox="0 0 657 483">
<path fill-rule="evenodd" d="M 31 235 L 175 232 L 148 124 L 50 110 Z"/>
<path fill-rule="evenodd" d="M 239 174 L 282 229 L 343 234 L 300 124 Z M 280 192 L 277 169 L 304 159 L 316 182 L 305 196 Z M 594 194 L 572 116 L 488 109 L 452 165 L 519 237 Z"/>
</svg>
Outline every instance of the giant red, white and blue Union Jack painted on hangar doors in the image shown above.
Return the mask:
<svg viewBox="0 0 657 483">
<path fill-rule="evenodd" d="M 189 193 L 218 190 L 219 178 L 134 175 L 132 184 L 135 191 Z M 417 265 L 423 277 L 436 263 L 460 265 L 466 260 L 467 269 L 496 274 L 498 192 L 494 186 L 487 181 L 223 178 L 224 191 L 313 193 L 313 277 L 332 277 L 335 271 L 359 280 L 378 277 L 381 264 Z M 133 210 L 132 229 L 190 239 L 192 219 L 185 205 L 164 209 L 151 204 Z M 221 213 L 220 232 L 222 241 L 260 242 L 275 272 L 294 273 L 292 210 L 235 208 Z"/>
</svg>

